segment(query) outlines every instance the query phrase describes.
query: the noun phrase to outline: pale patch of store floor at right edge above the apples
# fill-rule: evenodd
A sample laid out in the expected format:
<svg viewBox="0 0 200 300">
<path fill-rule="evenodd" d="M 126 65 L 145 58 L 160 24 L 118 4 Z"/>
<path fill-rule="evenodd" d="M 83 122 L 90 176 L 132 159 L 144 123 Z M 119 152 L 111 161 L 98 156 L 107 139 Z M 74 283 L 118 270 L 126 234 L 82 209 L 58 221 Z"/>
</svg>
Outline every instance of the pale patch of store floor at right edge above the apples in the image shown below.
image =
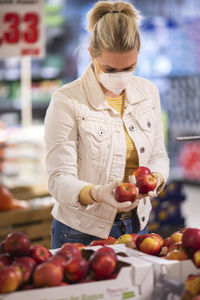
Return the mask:
<svg viewBox="0 0 200 300">
<path fill-rule="evenodd" d="M 182 214 L 187 227 L 200 228 L 200 185 L 184 185 L 186 200 L 182 205 Z"/>
</svg>

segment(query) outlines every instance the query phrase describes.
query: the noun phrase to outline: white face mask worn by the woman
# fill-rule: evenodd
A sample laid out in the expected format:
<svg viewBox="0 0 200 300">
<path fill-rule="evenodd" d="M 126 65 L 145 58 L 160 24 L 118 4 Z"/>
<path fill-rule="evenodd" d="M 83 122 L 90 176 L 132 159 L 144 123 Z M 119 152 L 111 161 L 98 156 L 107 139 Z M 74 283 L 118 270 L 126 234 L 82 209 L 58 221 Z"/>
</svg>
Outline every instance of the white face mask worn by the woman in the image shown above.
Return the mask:
<svg viewBox="0 0 200 300">
<path fill-rule="evenodd" d="M 97 75 L 99 82 L 101 82 L 103 86 L 113 94 L 120 95 L 121 92 L 129 85 L 133 71 L 104 73 L 99 69 L 96 60 L 95 63 L 99 71 L 99 74 Z"/>
</svg>

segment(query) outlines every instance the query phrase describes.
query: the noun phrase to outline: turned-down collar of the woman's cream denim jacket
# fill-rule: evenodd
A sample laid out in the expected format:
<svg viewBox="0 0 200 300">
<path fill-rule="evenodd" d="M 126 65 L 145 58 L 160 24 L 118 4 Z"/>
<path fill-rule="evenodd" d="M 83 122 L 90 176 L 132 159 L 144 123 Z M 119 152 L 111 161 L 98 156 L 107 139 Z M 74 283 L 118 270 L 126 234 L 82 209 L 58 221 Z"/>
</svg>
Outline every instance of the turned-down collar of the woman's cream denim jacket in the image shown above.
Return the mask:
<svg viewBox="0 0 200 300">
<path fill-rule="evenodd" d="M 92 62 L 89 64 L 87 70 L 81 76 L 81 79 L 83 82 L 83 88 L 88 95 L 88 102 L 90 103 L 90 105 L 97 110 L 110 109 L 110 106 L 105 99 L 102 88 L 95 76 Z M 128 103 L 136 104 L 140 101 L 145 100 L 147 96 L 136 82 L 134 76 L 132 80 L 132 84 L 130 84 L 126 89 L 126 97 Z"/>
</svg>

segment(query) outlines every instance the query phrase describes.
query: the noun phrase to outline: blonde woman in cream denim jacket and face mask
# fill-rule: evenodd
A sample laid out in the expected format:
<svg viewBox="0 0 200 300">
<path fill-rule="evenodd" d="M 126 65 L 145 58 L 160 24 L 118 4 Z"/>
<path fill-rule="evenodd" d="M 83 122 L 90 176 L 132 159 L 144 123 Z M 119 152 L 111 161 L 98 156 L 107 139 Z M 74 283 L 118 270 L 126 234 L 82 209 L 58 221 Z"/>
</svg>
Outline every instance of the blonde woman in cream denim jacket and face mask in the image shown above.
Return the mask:
<svg viewBox="0 0 200 300">
<path fill-rule="evenodd" d="M 157 178 L 153 195 L 167 180 L 159 93 L 150 81 L 133 76 L 138 19 L 129 3 L 97 2 L 88 13 L 91 63 L 52 96 L 45 118 L 49 191 L 56 200 L 52 248 L 147 232 L 148 195 L 119 203 L 114 190 L 132 181 L 139 165 Z"/>
</svg>

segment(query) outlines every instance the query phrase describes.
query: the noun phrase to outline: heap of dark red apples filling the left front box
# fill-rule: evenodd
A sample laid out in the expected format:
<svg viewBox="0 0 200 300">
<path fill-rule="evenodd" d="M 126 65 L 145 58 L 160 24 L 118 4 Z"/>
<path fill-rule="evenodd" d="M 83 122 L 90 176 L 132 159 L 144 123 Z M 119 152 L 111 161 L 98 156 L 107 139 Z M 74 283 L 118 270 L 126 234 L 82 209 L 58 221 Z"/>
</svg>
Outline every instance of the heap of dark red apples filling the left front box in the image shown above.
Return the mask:
<svg viewBox="0 0 200 300">
<path fill-rule="evenodd" d="M 0 294 L 116 278 L 113 249 L 105 245 L 86 255 L 83 247 L 65 243 L 52 254 L 42 245 L 32 246 L 22 232 L 8 234 L 0 243 Z"/>
</svg>

